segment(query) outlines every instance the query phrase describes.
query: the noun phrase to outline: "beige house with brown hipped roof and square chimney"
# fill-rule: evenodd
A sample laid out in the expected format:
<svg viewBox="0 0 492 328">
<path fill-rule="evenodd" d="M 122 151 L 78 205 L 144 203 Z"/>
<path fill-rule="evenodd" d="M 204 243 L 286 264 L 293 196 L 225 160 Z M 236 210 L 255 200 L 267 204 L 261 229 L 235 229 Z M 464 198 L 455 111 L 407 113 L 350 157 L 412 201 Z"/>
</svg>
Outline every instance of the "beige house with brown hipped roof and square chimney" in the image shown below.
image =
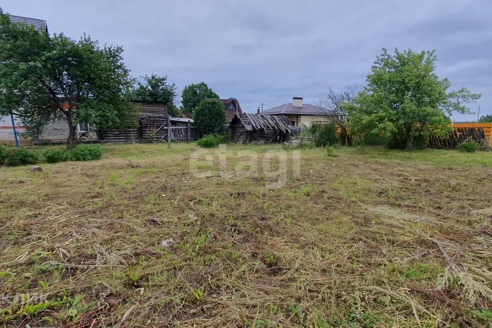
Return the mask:
<svg viewBox="0 0 492 328">
<path fill-rule="evenodd" d="M 261 112 L 263 115 L 285 115 L 295 127 L 309 127 L 313 122 L 333 121 L 335 116 L 321 106 L 304 104 L 302 97 L 293 97 L 292 103 L 283 104 Z"/>
</svg>

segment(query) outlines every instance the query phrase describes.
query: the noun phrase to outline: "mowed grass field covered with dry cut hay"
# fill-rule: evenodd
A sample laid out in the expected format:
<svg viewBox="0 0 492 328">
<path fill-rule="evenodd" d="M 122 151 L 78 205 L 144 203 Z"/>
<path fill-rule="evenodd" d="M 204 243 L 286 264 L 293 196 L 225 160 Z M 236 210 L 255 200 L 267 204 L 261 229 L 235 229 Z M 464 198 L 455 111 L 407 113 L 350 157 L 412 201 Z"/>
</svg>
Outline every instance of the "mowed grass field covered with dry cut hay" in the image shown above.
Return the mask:
<svg viewBox="0 0 492 328">
<path fill-rule="evenodd" d="M 492 325 L 491 153 L 104 147 L 0 169 L 2 325 Z"/>
</svg>

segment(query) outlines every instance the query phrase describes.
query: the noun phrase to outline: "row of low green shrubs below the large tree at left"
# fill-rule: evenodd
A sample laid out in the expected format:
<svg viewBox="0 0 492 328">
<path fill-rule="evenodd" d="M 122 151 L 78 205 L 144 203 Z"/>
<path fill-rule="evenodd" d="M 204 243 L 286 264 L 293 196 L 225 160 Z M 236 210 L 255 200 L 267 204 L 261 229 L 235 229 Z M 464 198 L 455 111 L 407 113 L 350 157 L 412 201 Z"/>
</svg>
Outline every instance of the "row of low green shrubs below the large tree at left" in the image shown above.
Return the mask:
<svg viewBox="0 0 492 328">
<path fill-rule="evenodd" d="M 95 160 L 102 156 L 103 148 L 100 145 L 78 145 L 71 150 L 48 149 L 43 153 L 48 163 Z M 35 164 L 38 160 L 38 150 L 0 145 L 0 166 Z"/>
</svg>

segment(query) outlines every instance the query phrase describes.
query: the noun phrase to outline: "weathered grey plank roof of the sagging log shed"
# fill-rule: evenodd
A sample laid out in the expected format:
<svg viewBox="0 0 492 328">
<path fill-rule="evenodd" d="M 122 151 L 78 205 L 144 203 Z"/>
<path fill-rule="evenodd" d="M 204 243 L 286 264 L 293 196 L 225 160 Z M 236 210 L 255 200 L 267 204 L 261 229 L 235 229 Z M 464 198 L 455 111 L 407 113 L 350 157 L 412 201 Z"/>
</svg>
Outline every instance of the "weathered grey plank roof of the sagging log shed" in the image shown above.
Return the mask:
<svg viewBox="0 0 492 328">
<path fill-rule="evenodd" d="M 291 133 L 295 129 L 289 119 L 283 115 L 235 113 L 231 124 L 235 120 L 240 120 L 246 131 L 264 131 L 265 128 L 270 128 L 275 131 Z"/>
</svg>

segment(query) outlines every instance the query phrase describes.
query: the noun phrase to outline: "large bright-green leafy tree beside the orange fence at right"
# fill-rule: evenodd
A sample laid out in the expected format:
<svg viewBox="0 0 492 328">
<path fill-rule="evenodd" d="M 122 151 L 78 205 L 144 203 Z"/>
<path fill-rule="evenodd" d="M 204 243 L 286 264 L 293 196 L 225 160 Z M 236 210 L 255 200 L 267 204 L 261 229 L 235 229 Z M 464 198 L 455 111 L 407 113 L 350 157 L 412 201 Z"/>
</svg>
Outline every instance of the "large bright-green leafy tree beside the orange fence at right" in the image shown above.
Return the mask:
<svg viewBox="0 0 492 328">
<path fill-rule="evenodd" d="M 465 104 L 481 95 L 465 88 L 448 91 L 449 80 L 434 73 L 434 52 L 383 49 L 351 108 L 352 131 L 366 141 L 400 139 L 412 150 L 415 138 L 426 144 L 430 134 L 446 135 L 453 112 L 469 113 Z"/>
</svg>

